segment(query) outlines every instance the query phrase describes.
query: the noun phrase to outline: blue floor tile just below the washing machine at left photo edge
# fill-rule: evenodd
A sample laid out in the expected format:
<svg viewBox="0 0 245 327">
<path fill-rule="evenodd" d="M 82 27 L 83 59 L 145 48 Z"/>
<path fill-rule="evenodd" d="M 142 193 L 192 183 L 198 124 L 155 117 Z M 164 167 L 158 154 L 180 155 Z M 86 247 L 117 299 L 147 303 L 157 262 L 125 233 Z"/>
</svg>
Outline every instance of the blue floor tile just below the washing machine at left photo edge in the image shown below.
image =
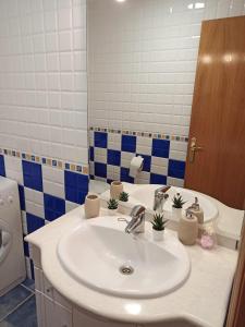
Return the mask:
<svg viewBox="0 0 245 327">
<path fill-rule="evenodd" d="M 0 320 L 13 311 L 20 303 L 32 294 L 30 291 L 22 286 L 17 286 L 0 298 Z M 3 325 L 4 326 L 4 325 Z M 20 326 L 20 322 L 19 322 Z"/>
</svg>

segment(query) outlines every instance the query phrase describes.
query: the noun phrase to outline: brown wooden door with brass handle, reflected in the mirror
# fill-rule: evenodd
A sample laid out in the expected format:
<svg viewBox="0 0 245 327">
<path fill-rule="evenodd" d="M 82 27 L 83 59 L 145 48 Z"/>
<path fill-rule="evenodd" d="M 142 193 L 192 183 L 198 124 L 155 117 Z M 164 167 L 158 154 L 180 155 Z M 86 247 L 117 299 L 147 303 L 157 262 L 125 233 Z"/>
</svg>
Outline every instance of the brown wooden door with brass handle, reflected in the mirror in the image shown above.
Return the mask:
<svg viewBox="0 0 245 327">
<path fill-rule="evenodd" d="M 245 16 L 203 23 L 185 186 L 243 206 Z"/>
</svg>

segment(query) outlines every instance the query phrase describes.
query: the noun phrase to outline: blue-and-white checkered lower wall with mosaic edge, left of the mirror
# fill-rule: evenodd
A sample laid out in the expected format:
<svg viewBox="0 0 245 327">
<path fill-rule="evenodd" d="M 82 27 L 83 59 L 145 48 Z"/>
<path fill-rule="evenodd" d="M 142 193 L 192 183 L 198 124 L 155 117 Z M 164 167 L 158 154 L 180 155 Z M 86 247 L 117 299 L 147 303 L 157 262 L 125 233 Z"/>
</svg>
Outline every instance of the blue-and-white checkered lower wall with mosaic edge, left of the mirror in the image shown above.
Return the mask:
<svg viewBox="0 0 245 327">
<path fill-rule="evenodd" d="M 0 175 L 19 182 L 23 237 L 83 204 L 88 192 L 88 167 L 0 148 Z M 34 278 L 29 247 L 26 268 Z"/>
</svg>

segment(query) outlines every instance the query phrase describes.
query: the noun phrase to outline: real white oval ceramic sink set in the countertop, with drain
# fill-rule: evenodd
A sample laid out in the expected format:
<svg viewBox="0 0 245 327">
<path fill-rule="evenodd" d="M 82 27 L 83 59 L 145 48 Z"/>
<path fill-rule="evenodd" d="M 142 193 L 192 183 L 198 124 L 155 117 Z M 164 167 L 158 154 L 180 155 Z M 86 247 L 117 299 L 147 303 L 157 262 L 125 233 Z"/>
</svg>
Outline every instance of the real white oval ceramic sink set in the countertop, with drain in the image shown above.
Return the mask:
<svg viewBox="0 0 245 327">
<path fill-rule="evenodd" d="M 130 217 L 127 217 L 130 219 Z M 181 287 L 191 263 L 186 250 L 170 232 L 164 241 L 146 233 L 126 234 L 117 217 L 85 220 L 58 244 L 58 257 L 79 283 L 121 298 L 157 298 Z"/>
</svg>

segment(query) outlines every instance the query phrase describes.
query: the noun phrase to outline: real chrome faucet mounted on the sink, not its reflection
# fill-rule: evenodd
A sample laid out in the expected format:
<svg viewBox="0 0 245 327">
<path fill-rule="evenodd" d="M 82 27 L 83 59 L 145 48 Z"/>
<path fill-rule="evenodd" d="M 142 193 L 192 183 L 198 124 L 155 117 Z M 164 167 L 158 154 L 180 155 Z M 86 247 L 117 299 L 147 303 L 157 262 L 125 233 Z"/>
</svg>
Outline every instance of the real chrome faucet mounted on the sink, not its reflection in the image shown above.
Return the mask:
<svg viewBox="0 0 245 327">
<path fill-rule="evenodd" d="M 145 215 L 146 208 L 142 205 L 134 206 L 130 216 L 131 221 L 125 228 L 126 233 L 144 233 L 145 232 Z"/>
</svg>

